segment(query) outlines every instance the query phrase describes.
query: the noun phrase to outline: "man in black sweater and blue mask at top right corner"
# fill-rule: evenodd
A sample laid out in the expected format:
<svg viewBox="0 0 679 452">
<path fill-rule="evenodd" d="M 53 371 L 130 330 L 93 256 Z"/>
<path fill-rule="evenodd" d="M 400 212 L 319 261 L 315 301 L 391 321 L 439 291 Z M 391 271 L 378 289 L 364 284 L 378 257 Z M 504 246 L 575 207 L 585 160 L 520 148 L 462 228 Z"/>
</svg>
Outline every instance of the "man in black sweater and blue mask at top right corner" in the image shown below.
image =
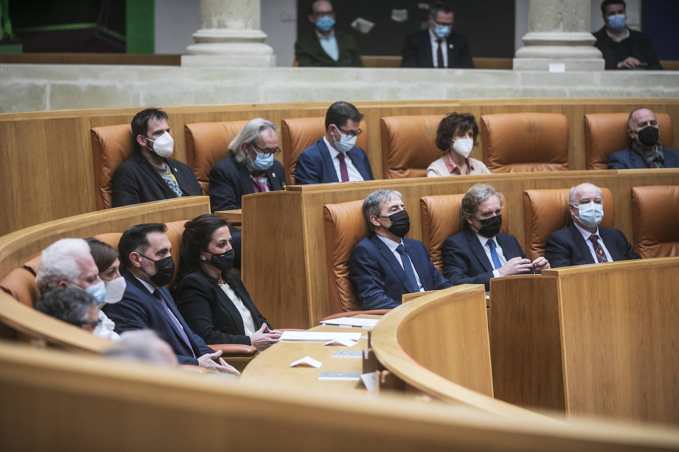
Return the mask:
<svg viewBox="0 0 679 452">
<path fill-rule="evenodd" d="M 594 44 L 604 56 L 606 69 L 662 69 L 646 33 L 627 27 L 624 0 L 604 0 L 604 26 L 593 33 Z"/>
</svg>

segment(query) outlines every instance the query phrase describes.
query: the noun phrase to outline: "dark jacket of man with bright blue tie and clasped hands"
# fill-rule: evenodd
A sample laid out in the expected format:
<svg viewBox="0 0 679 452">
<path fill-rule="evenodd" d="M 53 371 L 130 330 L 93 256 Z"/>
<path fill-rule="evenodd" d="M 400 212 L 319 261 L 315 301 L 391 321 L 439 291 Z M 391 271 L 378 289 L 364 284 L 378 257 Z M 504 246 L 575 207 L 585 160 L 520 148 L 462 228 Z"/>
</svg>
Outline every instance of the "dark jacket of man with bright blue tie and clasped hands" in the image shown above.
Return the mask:
<svg viewBox="0 0 679 452">
<path fill-rule="evenodd" d="M 526 258 L 521 245 L 513 235 L 498 232 L 496 239 L 502 247 L 504 258 Z M 453 285 L 483 284 L 488 291 L 493 277 L 493 266 L 485 255 L 478 237 L 464 228 L 443 242 L 443 276 Z"/>
</svg>

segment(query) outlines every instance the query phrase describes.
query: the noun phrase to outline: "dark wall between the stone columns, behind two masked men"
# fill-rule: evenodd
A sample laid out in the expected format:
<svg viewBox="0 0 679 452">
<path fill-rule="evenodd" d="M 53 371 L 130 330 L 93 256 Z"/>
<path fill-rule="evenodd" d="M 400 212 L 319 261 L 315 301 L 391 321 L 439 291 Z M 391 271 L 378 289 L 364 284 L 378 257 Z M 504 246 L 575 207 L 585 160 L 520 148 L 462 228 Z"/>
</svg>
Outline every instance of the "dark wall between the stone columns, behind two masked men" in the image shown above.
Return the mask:
<svg viewBox="0 0 679 452">
<path fill-rule="evenodd" d="M 308 20 L 312 0 L 297 1 L 297 36 L 313 32 Z M 426 22 L 428 11 L 418 9 L 414 0 L 342 0 L 333 3 L 335 24 L 350 33 L 359 45 L 361 55 L 401 55 L 403 39 Z M 433 1 L 424 3 L 434 3 Z M 514 0 L 449 1 L 454 12 L 453 29 L 469 39 L 472 56 L 512 58 L 514 56 Z M 408 20 L 391 20 L 392 9 L 407 9 Z M 361 17 L 375 26 L 367 35 L 351 28 Z"/>
</svg>

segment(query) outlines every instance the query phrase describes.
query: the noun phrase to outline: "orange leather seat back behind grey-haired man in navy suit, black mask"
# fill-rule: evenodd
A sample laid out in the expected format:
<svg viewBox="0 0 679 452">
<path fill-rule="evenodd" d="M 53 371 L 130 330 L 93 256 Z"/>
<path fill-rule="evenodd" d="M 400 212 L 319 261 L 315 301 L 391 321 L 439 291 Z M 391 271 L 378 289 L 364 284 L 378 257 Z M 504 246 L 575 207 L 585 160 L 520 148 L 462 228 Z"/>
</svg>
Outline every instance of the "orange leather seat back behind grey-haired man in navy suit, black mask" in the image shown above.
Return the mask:
<svg viewBox="0 0 679 452">
<path fill-rule="evenodd" d="M 361 309 L 349 280 L 349 258 L 370 232 L 362 207 L 362 199 L 323 206 L 331 314 Z"/>
</svg>

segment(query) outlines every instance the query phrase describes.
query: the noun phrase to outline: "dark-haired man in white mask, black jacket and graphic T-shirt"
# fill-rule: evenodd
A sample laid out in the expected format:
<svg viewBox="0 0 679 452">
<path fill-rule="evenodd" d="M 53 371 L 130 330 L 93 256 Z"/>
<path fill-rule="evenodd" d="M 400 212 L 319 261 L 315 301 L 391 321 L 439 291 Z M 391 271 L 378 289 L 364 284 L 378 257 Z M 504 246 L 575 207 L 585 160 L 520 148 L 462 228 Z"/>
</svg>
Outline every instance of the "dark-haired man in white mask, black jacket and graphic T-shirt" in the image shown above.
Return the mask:
<svg viewBox="0 0 679 452">
<path fill-rule="evenodd" d="M 168 157 L 174 141 L 167 119 L 158 108 L 132 119 L 135 152 L 113 173 L 113 207 L 202 194 L 194 171 Z"/>
</svg>

